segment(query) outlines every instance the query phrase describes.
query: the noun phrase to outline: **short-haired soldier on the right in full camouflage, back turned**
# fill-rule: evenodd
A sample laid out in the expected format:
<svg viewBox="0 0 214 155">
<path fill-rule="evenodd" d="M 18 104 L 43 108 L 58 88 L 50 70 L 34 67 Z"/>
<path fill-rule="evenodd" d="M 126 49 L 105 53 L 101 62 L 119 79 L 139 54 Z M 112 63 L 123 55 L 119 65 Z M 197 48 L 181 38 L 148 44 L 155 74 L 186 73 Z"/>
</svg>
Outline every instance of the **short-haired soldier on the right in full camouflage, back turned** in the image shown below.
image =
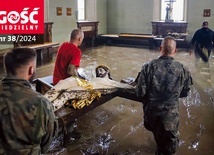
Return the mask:
<svg viewBox="0 0 214 155">
<path fill-rule="evenodd" d="M 186 97 L 192 78 L 181 63 L 174 60 L 176 41 L 162 41 L 161 56 L 146 63 L 139 74 L 137 96 L 142 99 L 144 126 L 157 144 L 156 155 L 172 155 L 179 145 L 179 98 Z"/>
</svg>

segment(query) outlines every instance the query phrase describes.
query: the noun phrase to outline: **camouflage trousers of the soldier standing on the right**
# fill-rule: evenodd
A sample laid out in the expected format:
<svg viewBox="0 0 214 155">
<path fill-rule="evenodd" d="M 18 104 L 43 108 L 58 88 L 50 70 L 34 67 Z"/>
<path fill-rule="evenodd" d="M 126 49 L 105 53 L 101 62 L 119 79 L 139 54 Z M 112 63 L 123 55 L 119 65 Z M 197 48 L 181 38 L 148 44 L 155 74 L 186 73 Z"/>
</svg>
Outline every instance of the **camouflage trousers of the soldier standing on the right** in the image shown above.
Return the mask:
<svg viewBox="0 0 214 155">
<path fill-rule="evenodd" d="M 145 116 L 144 116 L 145 118 Z M 151 131 L 156 141 L 156 155 L 173 155 L 179 146 L 178 132 L 179 118 L 174 122 L 162 119 L 144 119 L 144 126 Z"/>
</svg>

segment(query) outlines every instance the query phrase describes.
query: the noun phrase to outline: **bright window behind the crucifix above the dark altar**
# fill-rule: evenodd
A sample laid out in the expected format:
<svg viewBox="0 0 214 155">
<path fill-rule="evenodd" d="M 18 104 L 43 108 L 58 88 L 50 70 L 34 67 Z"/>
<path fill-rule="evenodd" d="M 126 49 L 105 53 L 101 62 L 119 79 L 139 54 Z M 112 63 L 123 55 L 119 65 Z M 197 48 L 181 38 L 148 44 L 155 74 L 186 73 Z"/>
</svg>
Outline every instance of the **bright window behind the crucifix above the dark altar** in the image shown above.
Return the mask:
<svg viewBox="0 0 214 155">
<path fill-rule="evenodd" d="M 167 16 L 167 9 L 172 8 L 171 19 L 174 21 L 184 21 L 185 17 L 185 0 L 161 0 L 161 20 L 165 20 Z"/>
</svg>

